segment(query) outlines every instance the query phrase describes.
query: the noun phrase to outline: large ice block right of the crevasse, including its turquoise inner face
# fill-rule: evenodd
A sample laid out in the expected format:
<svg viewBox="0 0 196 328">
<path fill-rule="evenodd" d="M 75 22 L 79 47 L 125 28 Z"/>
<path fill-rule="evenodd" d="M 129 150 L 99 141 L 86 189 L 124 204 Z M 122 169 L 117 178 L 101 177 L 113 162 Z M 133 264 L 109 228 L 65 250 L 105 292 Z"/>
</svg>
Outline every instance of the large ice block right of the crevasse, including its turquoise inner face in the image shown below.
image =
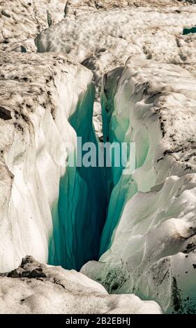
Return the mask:
<svg viewBox="0 0 196 328">
<path fill-rule="evenodd" d="M 103 255 L 82 272 L 109 292 L 195 313 L 196 79 L 135 55 L 105 76 L 102 103 L 105 139 L 135 142 L 136 170 L 113 168 Z"/>
</svg>

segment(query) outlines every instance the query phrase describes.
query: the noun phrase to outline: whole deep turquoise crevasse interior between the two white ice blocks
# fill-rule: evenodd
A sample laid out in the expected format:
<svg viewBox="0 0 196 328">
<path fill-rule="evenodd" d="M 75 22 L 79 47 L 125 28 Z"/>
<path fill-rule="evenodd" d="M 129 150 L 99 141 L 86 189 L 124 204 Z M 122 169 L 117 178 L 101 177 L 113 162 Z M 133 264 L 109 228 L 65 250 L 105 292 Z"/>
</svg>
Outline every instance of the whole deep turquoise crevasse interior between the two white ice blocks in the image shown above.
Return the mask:
<svg viewBox="0 0 196 328">
<path fill-rule="evenodd" d="M 121 68 L 116 70 L 117 75 Z M 107 78 L 105 75 L 104 78 Z M 111 81 L 116 91 L 118 78 Z M 110 83 L 109 83 L 110 84 Z M 129 122 L 119 122 L 112 115 L 114 110 L 114 94 L 110 94 L 107 83 L 103 80 L 101 91 L 101 107 L 103 116 L 103 144 L 126 142 Z M 130 183 L 130 175 L 123 175 L 123 165 L 116 166 L 114 154 L 111 153 L 111 165 L 107 167 L 98 163 L 98 138 L 93 128 L 93 103 L 95 87 L 91 83 L 85 96 L 80 100 L 70 125 L 77 137 L 81 137 L 82 145 L 91 142 L 96 145 L 96 166 L 67 167 L 61 177 L 59 199 L 52 209 L 53 235 L 50 239 L 49 264 L 61 265 L 66 269 L 80 270 L 89 260 L 98 260 L 112 243 L 112 234 L 119 223 L 123 208 L 130 197 L 137 192 L 135 181 Z M 114 132 L 115 131 L 115 132 Z M 148 145 L 142 154 L 148 152 Z M 105 150 L 103 154 L 105 154 Z M 84 156 L 85 151 L 82 151 Z M 75 154 L 77 163 L 77 157 Z M 130 157 L 127 154 L 126 161 Z M 105 157 L 105 156 L 104 156 Z M 145 157 L 145 156 L 144 156 Z M 142 165 L 144 158 L 139 158 L 137 165 Z"/>
</svg>

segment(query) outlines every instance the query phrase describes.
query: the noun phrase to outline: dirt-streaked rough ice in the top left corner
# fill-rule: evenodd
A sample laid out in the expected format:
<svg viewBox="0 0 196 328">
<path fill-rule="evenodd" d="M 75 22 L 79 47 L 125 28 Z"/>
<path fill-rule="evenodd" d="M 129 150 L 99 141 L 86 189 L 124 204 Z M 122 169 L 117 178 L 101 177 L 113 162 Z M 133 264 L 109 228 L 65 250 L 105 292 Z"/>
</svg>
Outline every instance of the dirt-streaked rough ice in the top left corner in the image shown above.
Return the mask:
<svg viewBox="0 0 196 328">
<path fill-rule="evenodd" d="M 0 50 L 36 51 L 34 38 L 63 19 L 66 0 L 0 1 Z"/>
</svg>

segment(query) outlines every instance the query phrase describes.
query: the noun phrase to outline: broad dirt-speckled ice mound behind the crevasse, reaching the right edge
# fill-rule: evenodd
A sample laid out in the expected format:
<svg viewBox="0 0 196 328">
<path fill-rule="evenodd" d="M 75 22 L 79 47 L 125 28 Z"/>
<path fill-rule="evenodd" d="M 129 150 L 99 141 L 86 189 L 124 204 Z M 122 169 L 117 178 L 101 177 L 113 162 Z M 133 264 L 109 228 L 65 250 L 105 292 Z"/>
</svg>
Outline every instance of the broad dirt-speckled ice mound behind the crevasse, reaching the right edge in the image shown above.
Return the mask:
<svg viewBox="0 0 196 328">
<path fill-rule="evenodd" d="M 96 84 L 104 73 L 124 65 L 132 54 L 173 64 L 184 64 L 190 59 L 181 53 L 186 44 L 182 33 L 184 27 L 195 26 L 194 5 L 96 11 L 85 8 L 78 8 L 74 19 L 68 15 L 66 20 L 40 33 L 36 38 L 38 52 L 73 55 L 93 71 Z"/>
</svg>

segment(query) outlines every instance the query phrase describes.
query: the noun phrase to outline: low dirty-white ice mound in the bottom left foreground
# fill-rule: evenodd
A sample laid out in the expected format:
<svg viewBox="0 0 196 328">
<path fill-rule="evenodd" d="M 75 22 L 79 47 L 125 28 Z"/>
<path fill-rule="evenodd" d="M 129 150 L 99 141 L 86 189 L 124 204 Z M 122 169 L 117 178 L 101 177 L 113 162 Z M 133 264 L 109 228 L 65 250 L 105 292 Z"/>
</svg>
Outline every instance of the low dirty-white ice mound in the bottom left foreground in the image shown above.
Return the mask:
<svg viewBox="0 0 196 328">
<path fill-rule="evenodd" d="M 108 295 L 83 274 L 40 264 L 27 256 L 20 267 L 0 274 L 0 313 L 160 314 L 154 301 L 135 295 Z"/>
</svg>

